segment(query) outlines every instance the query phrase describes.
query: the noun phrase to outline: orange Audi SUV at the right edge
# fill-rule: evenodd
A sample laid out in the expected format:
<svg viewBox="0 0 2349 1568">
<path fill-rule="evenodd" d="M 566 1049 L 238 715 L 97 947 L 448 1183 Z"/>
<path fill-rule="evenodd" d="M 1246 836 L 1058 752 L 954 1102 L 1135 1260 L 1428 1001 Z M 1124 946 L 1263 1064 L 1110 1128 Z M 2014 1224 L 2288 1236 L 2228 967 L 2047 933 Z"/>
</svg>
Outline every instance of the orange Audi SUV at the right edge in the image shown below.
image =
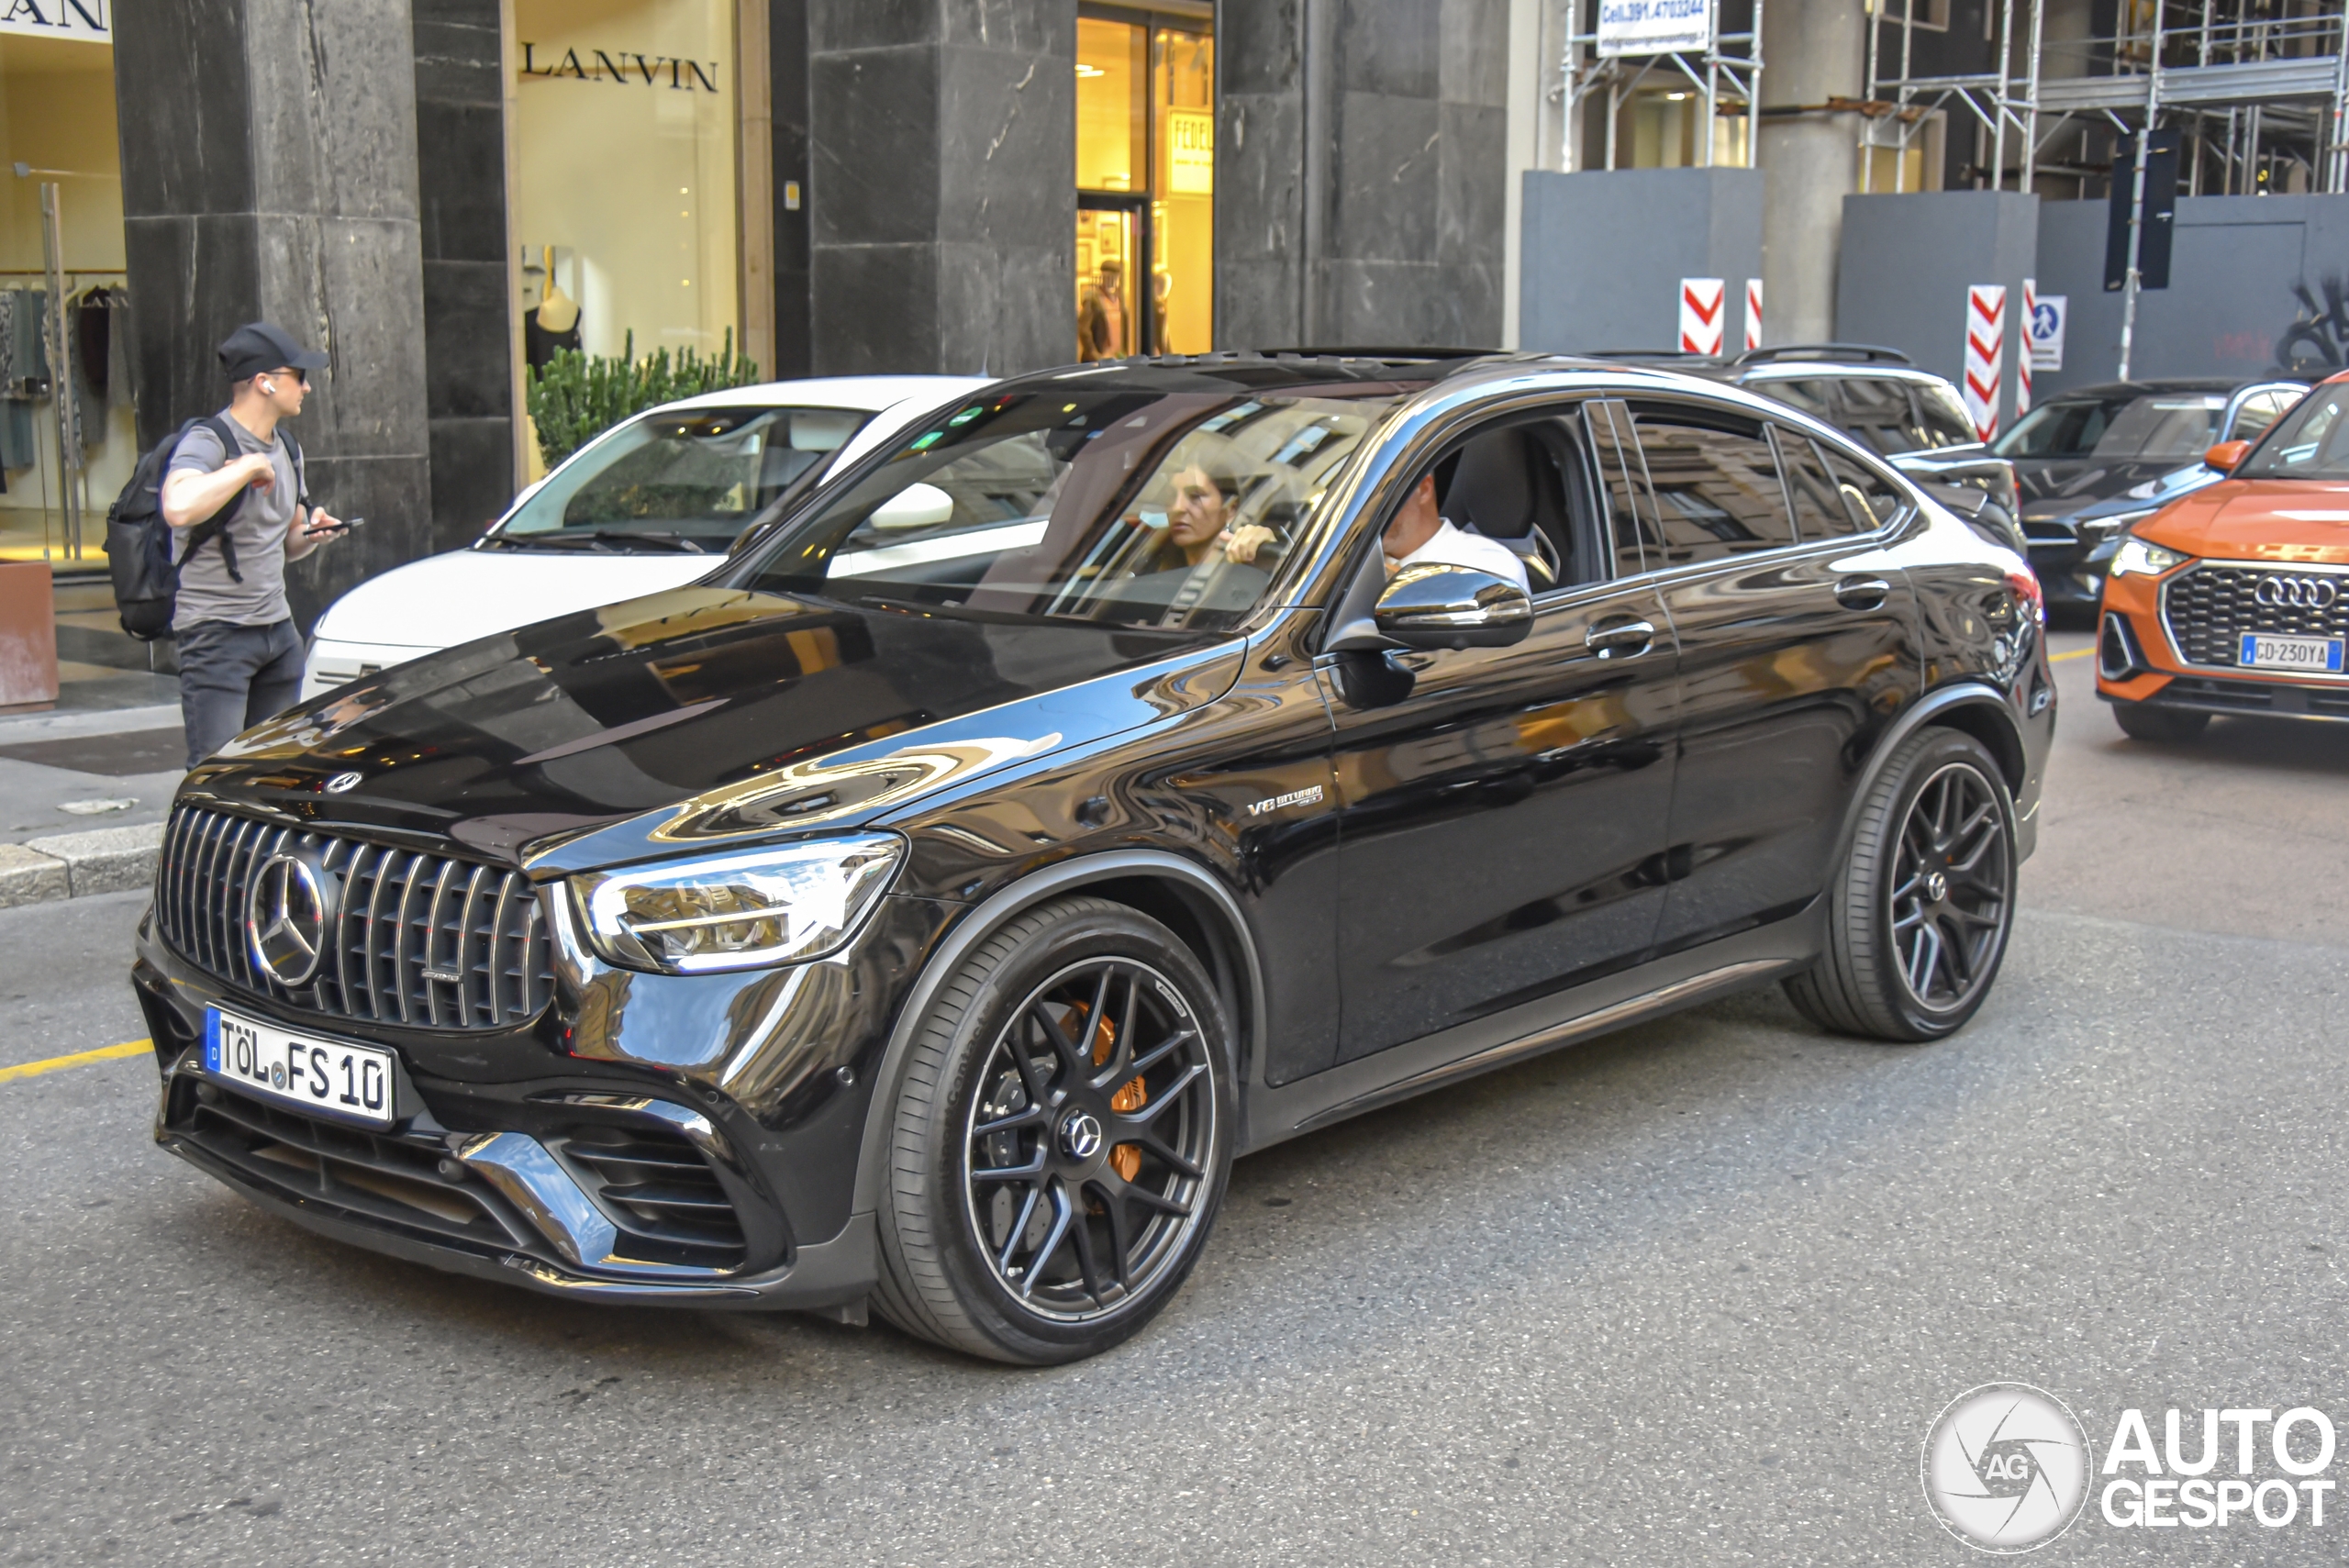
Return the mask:
<svg viewBox="0 0 2349 1568">
<path fill-rule="evenodd" d="M 2349 718 L 2349 373 L 2203 460 L 2227 479 L 2112 559 L 2095 695 L 2135 739 L 2189 739 L 2210 714 Z"/>
</svg>

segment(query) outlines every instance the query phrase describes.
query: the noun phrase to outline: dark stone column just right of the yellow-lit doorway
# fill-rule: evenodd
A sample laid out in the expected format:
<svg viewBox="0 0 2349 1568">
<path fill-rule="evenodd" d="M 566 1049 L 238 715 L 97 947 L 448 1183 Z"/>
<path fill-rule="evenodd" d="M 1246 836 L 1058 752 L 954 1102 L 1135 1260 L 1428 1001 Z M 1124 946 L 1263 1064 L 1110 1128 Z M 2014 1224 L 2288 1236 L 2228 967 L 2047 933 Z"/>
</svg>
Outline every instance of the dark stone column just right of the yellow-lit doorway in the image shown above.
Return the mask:
<svg viewBox="0 0 2349 1568">
<path fill-rule="evenodd" d="M 1224 0 L 1214 336 L 1494 347 L 1508 0 Z"/>
</svg>

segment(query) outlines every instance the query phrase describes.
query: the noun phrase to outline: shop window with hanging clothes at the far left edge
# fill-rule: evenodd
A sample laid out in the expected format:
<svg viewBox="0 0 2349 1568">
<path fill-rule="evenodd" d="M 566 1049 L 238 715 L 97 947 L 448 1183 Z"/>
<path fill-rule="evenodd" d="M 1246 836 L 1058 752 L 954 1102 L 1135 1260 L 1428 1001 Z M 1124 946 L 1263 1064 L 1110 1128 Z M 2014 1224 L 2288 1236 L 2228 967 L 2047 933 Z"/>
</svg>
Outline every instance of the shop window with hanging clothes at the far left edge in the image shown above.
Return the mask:
<svg viewBox="0 0 2349 1568">
<path fill-rule="evenodd" d="M 54 9 L 0 16 L 0 559 L 103 566 L 106 507 L 139 462 L 115 49 L 103 26 Z"/>
</svg>

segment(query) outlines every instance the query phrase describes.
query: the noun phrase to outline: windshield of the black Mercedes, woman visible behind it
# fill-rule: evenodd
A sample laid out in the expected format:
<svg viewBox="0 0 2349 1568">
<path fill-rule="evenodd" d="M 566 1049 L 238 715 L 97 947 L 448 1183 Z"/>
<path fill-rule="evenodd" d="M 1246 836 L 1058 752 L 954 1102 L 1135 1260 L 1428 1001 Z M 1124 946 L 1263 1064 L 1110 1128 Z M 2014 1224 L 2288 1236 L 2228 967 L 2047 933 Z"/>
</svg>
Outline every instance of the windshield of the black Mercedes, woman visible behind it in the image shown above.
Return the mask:
<svg viewBox="0 0 2349 1568">
<path fill-rule="evenodd" d="M 916 430 L 747 587 L 879 608 L 1221 631 L 1395 401 L 1005 392 Z"/>
</svg>

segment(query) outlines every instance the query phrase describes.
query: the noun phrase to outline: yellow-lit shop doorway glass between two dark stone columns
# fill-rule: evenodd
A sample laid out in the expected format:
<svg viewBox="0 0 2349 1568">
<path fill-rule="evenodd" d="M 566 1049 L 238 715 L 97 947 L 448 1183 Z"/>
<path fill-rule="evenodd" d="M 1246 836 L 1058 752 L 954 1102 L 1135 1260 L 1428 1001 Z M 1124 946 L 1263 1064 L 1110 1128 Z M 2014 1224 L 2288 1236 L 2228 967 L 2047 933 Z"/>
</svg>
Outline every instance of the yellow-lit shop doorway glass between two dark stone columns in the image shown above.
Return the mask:
<svg viewBox="0 0 2349 1568">
<path fill-rule="evenodd" d="M 1214 343 L 1214 38 L 1184 16 L 1076 21 L 1076 357 Z"/>
</svg>

